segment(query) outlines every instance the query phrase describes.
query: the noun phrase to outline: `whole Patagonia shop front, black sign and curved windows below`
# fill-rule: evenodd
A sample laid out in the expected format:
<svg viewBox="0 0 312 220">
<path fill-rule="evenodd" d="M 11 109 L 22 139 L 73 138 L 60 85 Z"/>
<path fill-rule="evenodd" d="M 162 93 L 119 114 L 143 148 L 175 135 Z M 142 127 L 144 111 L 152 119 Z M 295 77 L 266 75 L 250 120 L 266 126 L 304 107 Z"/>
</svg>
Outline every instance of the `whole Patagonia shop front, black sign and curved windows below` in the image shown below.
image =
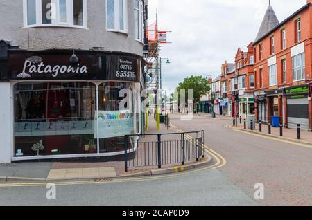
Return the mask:
<svg viewBox="0 0 312 220">
<path fill-rule="evenodd" d="M 141 129 L 141 65 L 123 53 L 9 51 L 10 161 L 123 154 L 123 136 Z"/>
</svg>

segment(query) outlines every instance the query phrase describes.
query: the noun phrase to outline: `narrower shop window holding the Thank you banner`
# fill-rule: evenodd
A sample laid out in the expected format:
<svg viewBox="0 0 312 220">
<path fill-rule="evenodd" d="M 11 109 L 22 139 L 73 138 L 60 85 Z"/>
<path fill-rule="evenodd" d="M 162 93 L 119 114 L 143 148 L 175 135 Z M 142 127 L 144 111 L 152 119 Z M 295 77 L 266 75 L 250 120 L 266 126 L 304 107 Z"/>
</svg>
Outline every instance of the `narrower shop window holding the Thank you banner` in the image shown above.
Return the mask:
<svg viewBox="0 0 312 220">
<path fill-rule="evenodd" d="M 137 133 L 132 84 L 105 82 L 99 86 L 98 97 L 100 153 L 123 151 L 123 136 Z"/>
</svg>

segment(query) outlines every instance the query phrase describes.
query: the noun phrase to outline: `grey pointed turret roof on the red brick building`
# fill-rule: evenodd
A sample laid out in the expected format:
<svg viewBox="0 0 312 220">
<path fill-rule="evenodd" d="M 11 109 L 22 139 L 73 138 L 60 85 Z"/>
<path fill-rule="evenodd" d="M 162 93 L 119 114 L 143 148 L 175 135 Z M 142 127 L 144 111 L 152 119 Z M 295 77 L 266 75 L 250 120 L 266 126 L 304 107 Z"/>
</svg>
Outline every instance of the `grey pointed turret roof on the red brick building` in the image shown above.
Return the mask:
<svg viewBox="0 0 312 220">
<path fill-rule="evenodd" d="M 275 15 L 275 12 L 271 5 L 268 6 L 268 9 L 266 10 L 266 15 L 264 15 L 263 21 L 261 23 L 258 35 L 254 42 L 257 42 L 261 37 L 266 35 L 270 30 L 275 28 L 279 25 L 279 20 L 277 19 L 277 16 Z"/>
</svg>

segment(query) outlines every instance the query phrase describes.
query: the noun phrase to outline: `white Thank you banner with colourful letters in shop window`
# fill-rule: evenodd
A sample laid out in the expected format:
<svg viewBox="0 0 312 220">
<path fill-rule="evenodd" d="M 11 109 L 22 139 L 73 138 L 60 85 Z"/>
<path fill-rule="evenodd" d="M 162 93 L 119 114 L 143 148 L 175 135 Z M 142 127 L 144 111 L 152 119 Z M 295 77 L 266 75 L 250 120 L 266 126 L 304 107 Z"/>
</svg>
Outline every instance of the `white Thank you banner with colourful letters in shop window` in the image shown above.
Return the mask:
<svg viewBox="0 0 312 220">
<path fill-rule="evenodd" d="M 94 122 L 94 138 L 112 138 L 128 134 L 133 131 L 133 114 L 126 111 L 96 111 L 97 122 Z M 98 132 L 97 132 L 98 131 Z"/>
</svg>

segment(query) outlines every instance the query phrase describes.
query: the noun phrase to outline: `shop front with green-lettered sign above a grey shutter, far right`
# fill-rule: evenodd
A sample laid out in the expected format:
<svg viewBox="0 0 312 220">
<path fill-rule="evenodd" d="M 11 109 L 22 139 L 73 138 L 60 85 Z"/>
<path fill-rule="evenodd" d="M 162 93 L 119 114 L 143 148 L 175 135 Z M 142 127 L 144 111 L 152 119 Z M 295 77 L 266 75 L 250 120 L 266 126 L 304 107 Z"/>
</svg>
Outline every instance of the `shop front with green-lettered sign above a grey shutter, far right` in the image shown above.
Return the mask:
<svg viewBox="0 0 312 220">
<path fill-rule="evenodd" d="M 284 89 L 286 96 L 286 125 L 289 128 L 297 128 L 300 124 L 302 129 L 311 129 L 309 126 L 309 85 L 296 86 Z M 311 104 L 310 104 L 311 105 Z M 311 118 L 310 118 L 311 120 Z"/>
</svg>

